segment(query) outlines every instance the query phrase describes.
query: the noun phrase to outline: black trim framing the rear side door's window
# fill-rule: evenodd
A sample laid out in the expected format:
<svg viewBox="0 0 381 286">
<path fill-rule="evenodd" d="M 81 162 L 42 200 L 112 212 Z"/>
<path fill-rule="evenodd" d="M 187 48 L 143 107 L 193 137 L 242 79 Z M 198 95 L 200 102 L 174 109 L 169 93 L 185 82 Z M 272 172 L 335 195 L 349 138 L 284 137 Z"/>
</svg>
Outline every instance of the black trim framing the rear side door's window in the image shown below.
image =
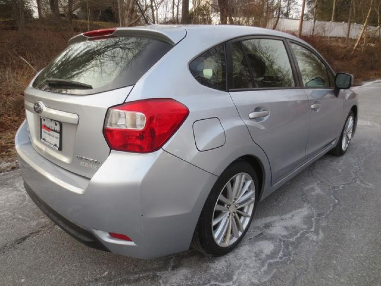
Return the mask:
<svg viewBox="0 0 381 286">
<path fill-rule="evenodd" d="M 283 45 L 285 47 L 287 56 L 288 56 L 288 61 L 291 66 L 291 71 L 293 74 L 294 82 L 295 82 L 295 87 L 253 87 L 253 88 L 230 88 L 233 86 L 233 62 L 232 62 L 232 47 L 231 45 L 235 42 L 241 42 L 241 46 L 243 47 L 242 41 L 244 40 L 253 40 L 253 39 L 268 39 L 268 40 L 278 40 L 282 41 Z M 250 36 L 243 36 L 243 37 L 238 37 L 234 38 L 231 40 L 228 40 L 226 43 L 226 57 L 227 57 L 227 91 L 228 92 L 242 92 L 242 91 L 252 91 L 252 90 L 288 90 L 288 89 L 299 89 L 301 88 L 301 79 L 299 78 L 298 70 L 296 69 L 296 65 L 293 59 L 293 54 L 291 54 L 290 47 L 288 47 L 287 43 L 287 38 L 284 37 L 279 37 L 279 36 L 272 36 L 272 35 L 250 35 Z M 243 53 L 245 54 L 245 58 L 247 59 L 246 55 L 246 49 L 243 48 Z M 251 78 L 253 78 L 251 68 L 249 66 L 249 71 Z"/>
</svg>

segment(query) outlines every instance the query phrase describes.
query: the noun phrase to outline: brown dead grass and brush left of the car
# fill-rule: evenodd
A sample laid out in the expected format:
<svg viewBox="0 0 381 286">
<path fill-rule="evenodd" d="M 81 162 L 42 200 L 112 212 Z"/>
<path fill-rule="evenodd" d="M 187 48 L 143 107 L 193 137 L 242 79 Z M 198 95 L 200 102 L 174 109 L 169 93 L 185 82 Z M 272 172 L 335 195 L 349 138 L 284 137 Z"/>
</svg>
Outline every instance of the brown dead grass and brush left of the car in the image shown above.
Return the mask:
<svg viewBox="0 0 381 286">
<path fill-rule="evenodd" d="M 66 45 L 73 32 L 31 29 L 2 31 L 0 37 L 0 172 L 16 168 L 14 133 L 24 120 L 24 89 L 36 70 L 48 64 Z"/>
</svg>

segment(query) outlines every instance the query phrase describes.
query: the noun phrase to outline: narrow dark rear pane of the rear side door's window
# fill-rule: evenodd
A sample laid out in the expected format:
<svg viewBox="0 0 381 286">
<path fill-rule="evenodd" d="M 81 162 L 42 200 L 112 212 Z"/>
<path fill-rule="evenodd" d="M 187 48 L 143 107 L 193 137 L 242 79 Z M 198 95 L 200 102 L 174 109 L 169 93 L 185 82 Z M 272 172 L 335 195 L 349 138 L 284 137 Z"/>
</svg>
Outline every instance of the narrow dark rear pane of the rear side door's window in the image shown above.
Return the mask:
<svg viewBox="0 0 381 286">
<path fill-rule="evenodd" d="M 240 42 L 232 44 L 233 86 L 232 88 L 252 88 L 249 67 Z"/>
</svg>

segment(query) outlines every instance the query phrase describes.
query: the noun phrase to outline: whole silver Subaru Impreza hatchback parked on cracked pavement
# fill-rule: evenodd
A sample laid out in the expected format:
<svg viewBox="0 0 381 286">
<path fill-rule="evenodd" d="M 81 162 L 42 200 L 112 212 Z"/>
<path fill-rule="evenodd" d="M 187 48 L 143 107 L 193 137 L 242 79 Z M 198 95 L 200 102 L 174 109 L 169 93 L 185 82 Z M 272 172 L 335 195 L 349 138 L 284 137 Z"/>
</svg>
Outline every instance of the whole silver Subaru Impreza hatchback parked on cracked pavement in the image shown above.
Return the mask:
<svg viewBox="0 0 381 286">
<path fill-rule="evenodd" d="M 25 90 L 25 188 L 82 243 L 149 259 L 234 249 L 256 205 L 357 123 L 352 76 L 307 43 L 242 26 L 70 39 Z"/>
</svg>

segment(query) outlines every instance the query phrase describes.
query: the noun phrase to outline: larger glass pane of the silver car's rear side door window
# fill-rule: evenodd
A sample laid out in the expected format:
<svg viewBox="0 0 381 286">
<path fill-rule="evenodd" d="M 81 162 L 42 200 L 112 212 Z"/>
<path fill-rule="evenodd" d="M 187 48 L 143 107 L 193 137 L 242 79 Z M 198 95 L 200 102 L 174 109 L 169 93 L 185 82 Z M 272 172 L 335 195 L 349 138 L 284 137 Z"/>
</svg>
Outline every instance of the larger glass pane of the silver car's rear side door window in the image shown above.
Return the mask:
<svg viewBox="0 0 381 286">
<path fill-rule="evenodd" d="M 252 39 L 242 43 L 253 74 L 254 87 L 295 87 L 283 41 Z"/>
</svg>

